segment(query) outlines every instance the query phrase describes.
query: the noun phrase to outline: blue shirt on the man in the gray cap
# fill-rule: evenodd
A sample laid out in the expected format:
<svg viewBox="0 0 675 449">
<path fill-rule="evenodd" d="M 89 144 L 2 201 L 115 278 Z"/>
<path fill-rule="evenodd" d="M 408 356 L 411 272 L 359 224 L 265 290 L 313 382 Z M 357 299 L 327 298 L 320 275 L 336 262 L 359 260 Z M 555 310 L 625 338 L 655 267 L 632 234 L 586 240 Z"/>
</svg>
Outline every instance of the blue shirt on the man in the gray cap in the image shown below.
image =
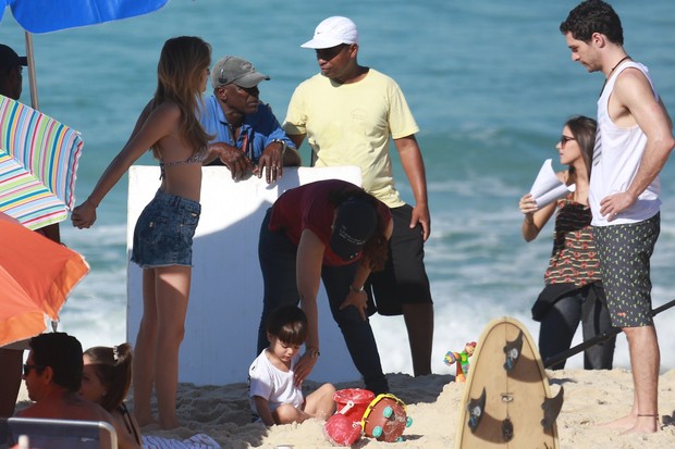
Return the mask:
<svg viewBox="0 0 675 449">
<path fill-rule="evenodd" d="M 207 134 L 216 136 L 209 144 L 222 141 L 240 148 L 242 151 L 246 152 L 246 155 L 248 155 L 254 164 L 258 163 L 260 155 L 262 155 L 262 151 L 273 140 L 283 140 L 286 142 L 286 146 L 295 149 L 295 145 L 293 145 L 289 136 L 286 136 L 286 133 L 277 121 L 277 117 L 274 117 L 269 104 L 260 103 L 258 111 L 244 117 L 244 123 L 242 124 L 240 137 L 236 142 L 233 141 L 225 113 L 214 96 L 211 95 L 204 100 L 204 108 L 200 108 L 199 122 Z M 246 146 L 246 148 L 244 148 L 244 146 Z M 216 159 L 214 163 L 222 165 L 219 159 Z M 213 162 L 211 162 L 211 164 L 213 164 Z"/>
</svg>

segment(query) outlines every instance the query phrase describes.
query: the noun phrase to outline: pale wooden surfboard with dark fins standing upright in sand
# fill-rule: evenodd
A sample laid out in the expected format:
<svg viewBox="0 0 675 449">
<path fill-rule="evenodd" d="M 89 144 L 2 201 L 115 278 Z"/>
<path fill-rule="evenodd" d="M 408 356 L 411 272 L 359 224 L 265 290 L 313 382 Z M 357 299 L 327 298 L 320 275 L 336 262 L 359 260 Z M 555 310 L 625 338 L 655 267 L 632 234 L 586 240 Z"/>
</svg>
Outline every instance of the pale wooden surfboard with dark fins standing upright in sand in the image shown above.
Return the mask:
<svg viewBox="0 0 675 449">
<path fill-rule="evenodd" d="M 551 397 L 527 328 L 512 317 L 493 320 L 470 360 L 455 449 L 557 449 L 563 389 Z"/>
</svg>

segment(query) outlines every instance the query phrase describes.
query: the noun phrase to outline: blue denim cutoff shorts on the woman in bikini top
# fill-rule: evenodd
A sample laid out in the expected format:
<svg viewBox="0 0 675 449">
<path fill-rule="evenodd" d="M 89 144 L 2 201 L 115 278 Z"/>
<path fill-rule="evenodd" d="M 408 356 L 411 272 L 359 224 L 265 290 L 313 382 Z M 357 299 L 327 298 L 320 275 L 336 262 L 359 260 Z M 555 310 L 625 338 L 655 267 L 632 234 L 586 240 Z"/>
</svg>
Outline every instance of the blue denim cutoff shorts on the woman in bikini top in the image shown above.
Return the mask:
<svg viewBox="0 0 675 449">
<path fill-rule="evenodd" d="M 192 266 L 200 213 L 197 201 L 158 190 L 136 222 L 132 262 L 144 269 Z"/>
</svg>

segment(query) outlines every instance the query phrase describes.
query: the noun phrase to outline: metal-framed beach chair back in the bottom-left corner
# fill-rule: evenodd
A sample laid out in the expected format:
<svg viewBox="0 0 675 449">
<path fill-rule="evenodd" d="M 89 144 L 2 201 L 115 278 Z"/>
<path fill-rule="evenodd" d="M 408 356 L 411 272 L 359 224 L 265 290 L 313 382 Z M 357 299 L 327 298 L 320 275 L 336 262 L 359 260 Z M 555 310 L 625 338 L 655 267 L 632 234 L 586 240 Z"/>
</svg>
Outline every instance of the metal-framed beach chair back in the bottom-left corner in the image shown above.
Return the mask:
<svg viewBox="0 0 675 449">
<path fill-rule="evenodd" d="M 17 444 L 26 435 L 30 448 L 116 449 L 114 428 L 103 421 L 10 417 L 0 420 L 0 449 Z"/>
</svg>

